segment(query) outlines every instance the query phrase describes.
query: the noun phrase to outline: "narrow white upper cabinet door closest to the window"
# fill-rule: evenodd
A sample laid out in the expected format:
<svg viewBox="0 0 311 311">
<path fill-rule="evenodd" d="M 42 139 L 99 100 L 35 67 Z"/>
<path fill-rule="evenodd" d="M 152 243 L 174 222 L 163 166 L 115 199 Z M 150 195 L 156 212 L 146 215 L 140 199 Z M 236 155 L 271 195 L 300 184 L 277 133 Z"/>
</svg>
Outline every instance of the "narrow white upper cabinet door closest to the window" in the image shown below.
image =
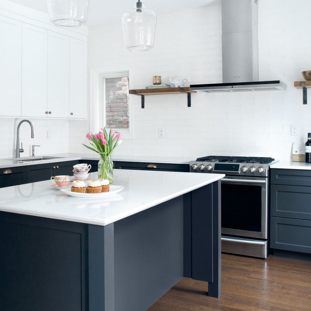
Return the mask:
<svg viewBox="0 0 311 311">
<path fill-rule="evenodd" d="M 86 118 L 86 42 L 70 38 L 70 118 Z"/>
</svg>

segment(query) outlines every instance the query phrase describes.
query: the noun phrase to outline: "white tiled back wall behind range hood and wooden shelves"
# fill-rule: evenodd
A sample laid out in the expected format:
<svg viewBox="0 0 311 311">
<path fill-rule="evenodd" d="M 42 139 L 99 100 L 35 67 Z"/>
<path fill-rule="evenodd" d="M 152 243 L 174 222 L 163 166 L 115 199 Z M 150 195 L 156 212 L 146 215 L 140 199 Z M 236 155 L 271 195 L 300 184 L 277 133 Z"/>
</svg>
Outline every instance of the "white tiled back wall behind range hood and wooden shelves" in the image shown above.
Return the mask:
<svg viewBox="0 0 311 311">
<path fill-rule="evenodd" d="M 311 2 L 259 0 L 259 78 L 281 80 L 287 91 L 133 96 L 134 139 L 123 140 L 115 154 L 189 156 L 209 154 L 272 156 L 290 160 L 292 142 L 311 132 L 310 104 L 294 81 L 311 69 L 308 22 Z M 121 23 L 89 27 L 88 67 L 133 64 L 134 88 L 151 84 L 153 75 L 180 76 L 190 83 L 217 83 L 221 74 L 221 7 L 158 16 L 154 48 L 131 53 L 124 48 Z M 299 136 L 290 136 L 298 124 Z M 158 128 L 165 137 L 158 138 Z M 86 126 L 85 130 L 88 128 Z M 77 141 L 75 140 L 77 143 Z M 80 143 L 77 143 L 81 146 Z M 85 151 L 84 147 L 80 151 Z M 77 150 L 78 151 L 78 150 Z"/>
</svg>

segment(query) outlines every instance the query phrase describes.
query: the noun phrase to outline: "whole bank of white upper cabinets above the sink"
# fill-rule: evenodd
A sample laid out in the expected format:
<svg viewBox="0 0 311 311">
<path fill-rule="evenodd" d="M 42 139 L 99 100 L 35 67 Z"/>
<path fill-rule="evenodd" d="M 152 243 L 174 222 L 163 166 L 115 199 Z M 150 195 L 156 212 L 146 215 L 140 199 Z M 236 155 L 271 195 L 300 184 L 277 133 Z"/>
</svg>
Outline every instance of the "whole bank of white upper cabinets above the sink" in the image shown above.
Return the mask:
<svg viewBox="0 0 311 311">
<path fill-rule="evenodd" d="M 86 35 L 0 14 L 0 117 L 85 119 Z"/>
</svg>

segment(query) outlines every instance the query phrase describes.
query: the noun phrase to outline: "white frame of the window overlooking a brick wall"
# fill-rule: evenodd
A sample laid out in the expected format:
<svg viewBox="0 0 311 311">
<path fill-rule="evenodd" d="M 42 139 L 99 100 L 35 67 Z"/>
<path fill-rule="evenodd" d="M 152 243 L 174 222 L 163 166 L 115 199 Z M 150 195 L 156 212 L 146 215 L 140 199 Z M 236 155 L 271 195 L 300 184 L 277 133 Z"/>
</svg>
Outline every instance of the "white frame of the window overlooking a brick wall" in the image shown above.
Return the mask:
<svg viewBox="0 0 311 311">
<path fill-rule="evenodd" d="M 124 75 L 125 73 L 125 75 Z M 133 67 L 101 67 L 90 68 L 90 132 L 97 133 L 99 128 L 104 127 L 106 118 L 104 118 L 105 110 L 101 107 L 105 106 L 106 97 L 104 78 L 112 77 L 129 77 L 129 89 L 133 88 Z M 122 139 L 134 139 L 134 118 L 132 107 L 132 96 L 128 98 L 128 116 L 129 128 L 116 129 L 122 134 Z M 102 118 L 104 118 L 102 120 Z"/>
</svg>

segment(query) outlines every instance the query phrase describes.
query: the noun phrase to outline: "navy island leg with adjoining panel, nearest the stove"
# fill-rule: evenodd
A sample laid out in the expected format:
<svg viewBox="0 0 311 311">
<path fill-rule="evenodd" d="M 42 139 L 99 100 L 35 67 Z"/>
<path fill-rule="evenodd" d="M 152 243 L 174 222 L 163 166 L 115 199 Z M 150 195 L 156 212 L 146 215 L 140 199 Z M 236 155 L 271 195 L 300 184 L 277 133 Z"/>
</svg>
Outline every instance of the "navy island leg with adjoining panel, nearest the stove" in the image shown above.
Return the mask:
<svg viewBox="0 0 311 311">
<path fill-rule="evenodd" d="M 220 296 L 220 181 L 192 192 L 192 278 L 208 282 L 208 295 Z"/>
</svg>

